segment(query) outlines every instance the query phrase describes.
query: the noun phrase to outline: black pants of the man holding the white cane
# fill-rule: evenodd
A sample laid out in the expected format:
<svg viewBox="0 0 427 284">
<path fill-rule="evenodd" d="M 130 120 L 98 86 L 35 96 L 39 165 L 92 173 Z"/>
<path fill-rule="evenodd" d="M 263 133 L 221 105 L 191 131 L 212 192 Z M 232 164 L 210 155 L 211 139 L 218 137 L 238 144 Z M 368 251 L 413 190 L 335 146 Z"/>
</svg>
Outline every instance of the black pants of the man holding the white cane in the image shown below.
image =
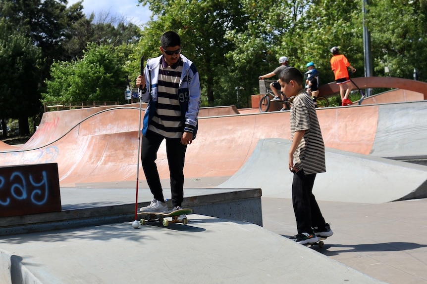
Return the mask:
<svg viewBox="0 0 427 284">
<path fill-rule="evenodd" d="M 154 198 L 164 202 L 163 189 L 160 184 L 159 171 L 157 170 L 157 151 L 160 143 L 166 139 L 166 155 L 170 173 L 170 191 L 172 205 L 181 206 L 184 199 L 184 160 L 187 145 L 182 145 L 180 139 L 163 138 L 151 131 L 142 137 L 141 161 L 145 178 Z"/>
</svg>

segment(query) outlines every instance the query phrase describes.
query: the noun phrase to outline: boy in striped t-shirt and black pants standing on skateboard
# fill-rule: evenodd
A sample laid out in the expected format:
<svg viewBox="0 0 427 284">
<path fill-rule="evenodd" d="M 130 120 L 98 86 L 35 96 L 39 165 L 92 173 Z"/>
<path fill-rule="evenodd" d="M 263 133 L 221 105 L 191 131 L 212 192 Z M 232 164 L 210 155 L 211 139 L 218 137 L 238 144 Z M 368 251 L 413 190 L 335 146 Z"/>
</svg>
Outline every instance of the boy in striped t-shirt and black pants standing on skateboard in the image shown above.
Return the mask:
<svg viewBox="0 0 427 284">
<path fill-rule="evenodd" d="M 325 172 L 324 144 L 313 99 L 303 88 L 303 75 L 293 67 L 279 76 L 281 91 L 290 97 L 292 144 L 288 167 L 293 172 L 292 204 L 298 234 L 290 239 L 297 243 L 316 243 L 320 237 L 332 236 L 329 224 L 320 212 L 313 195 L 317 173 Z"/>
</svg>

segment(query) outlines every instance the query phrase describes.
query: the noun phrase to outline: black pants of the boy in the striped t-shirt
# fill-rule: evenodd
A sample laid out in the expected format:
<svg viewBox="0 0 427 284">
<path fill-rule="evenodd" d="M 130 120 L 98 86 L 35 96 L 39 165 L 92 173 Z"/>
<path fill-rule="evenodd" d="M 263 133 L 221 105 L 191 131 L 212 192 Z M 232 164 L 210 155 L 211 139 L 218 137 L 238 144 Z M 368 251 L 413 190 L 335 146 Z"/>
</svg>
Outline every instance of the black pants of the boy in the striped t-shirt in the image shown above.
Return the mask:
<svg viewBox="0 0 427 284">
<path fill-rule="evenodd" d="M 313 232 L 312 227 L 323 228 L 324 218 L 313 195 L 316 174 L 304 174 L 304 170 L 294 173 L 292 182 L 292 204 L 297 220 L 298 234 Z"/>
</svg>

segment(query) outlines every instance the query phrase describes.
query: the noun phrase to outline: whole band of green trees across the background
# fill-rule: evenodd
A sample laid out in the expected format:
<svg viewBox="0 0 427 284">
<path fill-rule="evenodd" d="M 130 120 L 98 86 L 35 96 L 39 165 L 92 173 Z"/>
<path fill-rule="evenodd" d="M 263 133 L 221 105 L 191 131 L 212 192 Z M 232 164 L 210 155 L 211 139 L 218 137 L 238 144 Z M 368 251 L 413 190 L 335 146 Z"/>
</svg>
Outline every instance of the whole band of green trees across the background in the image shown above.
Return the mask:
<svg viewBox="0 0 427 284">
<path fill-rule="evenodd" d="M 250 106 L 258 77 L 277 67 L 280 56 L 302 72 L 313 61 L 320 84 L 331 82 L 334 45 L 358 70 L 354 76 L 363 77 L 364 24 L 371 32 L 374 76 L 412 79 L 416 68 L 427 81 L 427 0 L 370 1 L 365 17 L 363 0 L 139 3 L 153 12 L 141 29 L 108 14 L 86 18 L 82 2 L 67 7 L 63 0 L 0 0 L 1 115 L 33 116 L 41 92 L 45 101 L 124 101 L 141 56 L 160 55 L 160 36 L 168 30 L 178 32 L 182 53 L 199 70 L 203 106 Z"/>
</svg>

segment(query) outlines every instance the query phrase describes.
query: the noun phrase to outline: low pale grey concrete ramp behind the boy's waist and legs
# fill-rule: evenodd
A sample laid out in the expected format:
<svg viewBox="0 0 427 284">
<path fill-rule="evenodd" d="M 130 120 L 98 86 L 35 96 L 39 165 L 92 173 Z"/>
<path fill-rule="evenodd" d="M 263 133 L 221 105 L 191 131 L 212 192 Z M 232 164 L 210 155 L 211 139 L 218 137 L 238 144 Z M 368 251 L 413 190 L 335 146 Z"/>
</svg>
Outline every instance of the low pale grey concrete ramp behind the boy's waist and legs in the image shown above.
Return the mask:
<svg viewBox="0 0 427 284">
<path fill-rule="evenodd" d="M 249 160 L 219 188 L 259 187 L 263 197 L 292 198 L 287 168 L 290 140 L 262 139 Z M 326 149 L 326 172 L 316 177 L 317 200 L 385 203 L 427 197 L 427 167 Z"/>
</svg>

